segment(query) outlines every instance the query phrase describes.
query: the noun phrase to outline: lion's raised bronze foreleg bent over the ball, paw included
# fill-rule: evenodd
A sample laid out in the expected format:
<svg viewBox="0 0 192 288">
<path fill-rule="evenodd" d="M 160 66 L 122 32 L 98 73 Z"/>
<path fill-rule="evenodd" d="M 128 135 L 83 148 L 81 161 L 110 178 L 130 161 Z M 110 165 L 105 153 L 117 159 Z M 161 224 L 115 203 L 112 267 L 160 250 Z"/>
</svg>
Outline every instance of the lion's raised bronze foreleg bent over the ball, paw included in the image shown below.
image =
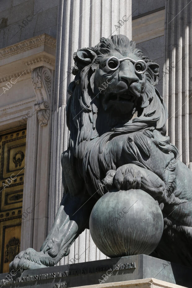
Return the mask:
<svg viewBox="0 0 192 288">
<path fill-rule="evenodd" d="M 108 190 L 142 189 L 158 202 L 166 202 L 165 183 L 154 172 L 135 164 L 125 164 L 109 170 L 103 180 Z"/>
</svg>

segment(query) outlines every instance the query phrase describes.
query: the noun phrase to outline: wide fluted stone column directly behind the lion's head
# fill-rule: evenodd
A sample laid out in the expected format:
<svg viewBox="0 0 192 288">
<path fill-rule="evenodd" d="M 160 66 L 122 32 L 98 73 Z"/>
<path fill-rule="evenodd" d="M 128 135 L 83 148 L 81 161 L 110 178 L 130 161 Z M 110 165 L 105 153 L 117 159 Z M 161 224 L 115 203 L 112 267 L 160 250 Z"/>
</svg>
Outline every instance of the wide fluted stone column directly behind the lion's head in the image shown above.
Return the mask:
<svg viewBox="0 0 192 288">
<path fill-rule="evenodd" d="M 68 145 L 65 107 L 69 97 L 67 87 L 74 78 L 71 74 L 71 67 L 74 65 L 73 53 L 78 48 L 94 46 L 99 42 L 100 37 L 110 37 L 112 34 L 125 34 L 131 39 L 131 14 L 131 0 L 59 1 L 48 231 L 62 199 L 60 155 Z M 129 19 L 123 24 L 124 15 L 126 15 L 124 19 Z M 72 245 L 68 257 L 61 260 L 60 264 L 71 263 L 75 259 L 75 255 L 76 259 L 79 258 L 76 262 L 106 258 L 94 245 L 89 230 L 79 236 Z"/>
</svg>

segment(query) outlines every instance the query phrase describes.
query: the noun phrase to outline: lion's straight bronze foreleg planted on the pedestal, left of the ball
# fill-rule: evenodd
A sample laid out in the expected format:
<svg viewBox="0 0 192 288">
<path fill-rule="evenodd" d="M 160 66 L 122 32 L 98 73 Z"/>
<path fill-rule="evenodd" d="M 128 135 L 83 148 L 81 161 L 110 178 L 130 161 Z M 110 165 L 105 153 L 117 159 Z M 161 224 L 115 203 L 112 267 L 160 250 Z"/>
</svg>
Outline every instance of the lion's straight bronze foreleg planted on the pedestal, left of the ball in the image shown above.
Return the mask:
<svg viewBox="0 0 192 288">
<path fill-rule="evenodd" d="M 88 228 L 94 206 L 93 198 L 89 198 L 86 194 L 73 197 L 65 195 L 41 251 L 28 248 L 20 252 L 10 263 L 10 271 L 54 266 L 63 256 L 68 255 L 74 240 Z"/>
</svg>

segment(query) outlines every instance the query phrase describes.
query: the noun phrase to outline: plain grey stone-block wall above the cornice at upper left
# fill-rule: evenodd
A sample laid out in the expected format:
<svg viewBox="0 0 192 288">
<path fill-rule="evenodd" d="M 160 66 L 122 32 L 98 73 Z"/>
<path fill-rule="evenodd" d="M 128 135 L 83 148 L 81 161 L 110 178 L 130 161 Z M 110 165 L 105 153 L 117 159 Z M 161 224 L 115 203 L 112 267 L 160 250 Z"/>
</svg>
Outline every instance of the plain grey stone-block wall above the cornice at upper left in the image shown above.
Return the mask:
<svg viewBox="0 0 192 288">
<path fill-rule="evenodd" d="M 59 0 L 1 0 L 0 49 L 47 33 L 57 37 Z"/>
</svg>

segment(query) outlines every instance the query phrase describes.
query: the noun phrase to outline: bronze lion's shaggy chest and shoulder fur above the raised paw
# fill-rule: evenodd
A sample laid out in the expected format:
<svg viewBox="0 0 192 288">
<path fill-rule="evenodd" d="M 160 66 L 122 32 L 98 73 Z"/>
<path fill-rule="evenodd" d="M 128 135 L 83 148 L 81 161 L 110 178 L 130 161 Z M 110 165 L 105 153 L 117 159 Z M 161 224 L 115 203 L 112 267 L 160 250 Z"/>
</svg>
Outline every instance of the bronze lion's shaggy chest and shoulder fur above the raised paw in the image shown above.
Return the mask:
<svg viewBox="0 0 192 288">
<path fill-rule="evenodd" d="M 167 138 L 164 139 L 158 131 L 153 133 L 149 130 L 115 137 L 111 137 L 111 134 L 105 133 L 90 141 L 87 146 L 83 171 L 90 194 L 95 191 L 103 194 L 102 179 L 107 171 L 116 170 L 124 164 L 137 164 L 157 174 L 165 183 L 168 181 L 165 168 L 174 159 L 174 154 Z M 162 151 L 163 144 L 170 146 L 170 151 L 168 147 Z"/>
</svg>

